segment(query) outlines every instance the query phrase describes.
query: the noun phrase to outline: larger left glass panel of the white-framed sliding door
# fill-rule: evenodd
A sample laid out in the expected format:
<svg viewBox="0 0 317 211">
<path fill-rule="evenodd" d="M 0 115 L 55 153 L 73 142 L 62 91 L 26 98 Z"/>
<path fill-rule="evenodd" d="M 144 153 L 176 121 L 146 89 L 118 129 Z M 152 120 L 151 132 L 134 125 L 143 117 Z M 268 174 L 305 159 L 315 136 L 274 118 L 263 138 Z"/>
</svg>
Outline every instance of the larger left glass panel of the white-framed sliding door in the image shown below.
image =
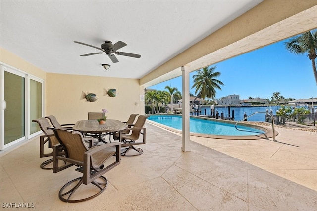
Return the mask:
<svg viewBox="0 0 317 211">
<path fill-rule="evenodd" d="M 4 145 L 25 136 L 25 78 L 4 71 Z"/>
</svg>

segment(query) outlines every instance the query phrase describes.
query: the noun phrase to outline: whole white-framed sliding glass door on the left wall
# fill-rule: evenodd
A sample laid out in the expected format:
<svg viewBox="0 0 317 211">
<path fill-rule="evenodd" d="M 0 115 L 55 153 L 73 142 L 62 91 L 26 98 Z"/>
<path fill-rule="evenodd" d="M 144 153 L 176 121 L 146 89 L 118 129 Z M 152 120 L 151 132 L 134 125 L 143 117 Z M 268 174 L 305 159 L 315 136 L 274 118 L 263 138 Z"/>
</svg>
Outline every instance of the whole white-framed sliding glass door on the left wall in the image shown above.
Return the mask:
<svg viewBox="0 0 317 211">
<path fill-rule="evenodd" d="M 1 63 L 0 150 L 39 133 L 32 122 L 43 116 L 43 80 Z"/>
</svg>

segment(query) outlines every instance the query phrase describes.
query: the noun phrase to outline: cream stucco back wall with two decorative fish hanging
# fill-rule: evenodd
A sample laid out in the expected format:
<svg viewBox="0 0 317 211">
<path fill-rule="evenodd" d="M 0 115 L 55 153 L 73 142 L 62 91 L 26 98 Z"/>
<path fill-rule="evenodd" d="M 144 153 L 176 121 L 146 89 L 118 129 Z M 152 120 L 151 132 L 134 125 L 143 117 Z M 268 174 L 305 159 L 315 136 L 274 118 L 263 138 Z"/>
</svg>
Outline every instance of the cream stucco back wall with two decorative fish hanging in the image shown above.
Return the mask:
<svg viewBox="0 0 317 211">
<path fill-rule="evenodd" d="M 140 114 L 138 79 L 47 73 L 46 86 L 46 113 L 56 116 L 61 124 L 87 119 L 88 112 L 102 112 L 103 108 L 108 110 L 109 119 L 120 121 L 127 121 L 131 113 Z M 110 88 L 117 90 L 116 97 L 106 94 Z M 94 93 L 98 100 L 89 102 L 84 93 Z"/>
</svg>

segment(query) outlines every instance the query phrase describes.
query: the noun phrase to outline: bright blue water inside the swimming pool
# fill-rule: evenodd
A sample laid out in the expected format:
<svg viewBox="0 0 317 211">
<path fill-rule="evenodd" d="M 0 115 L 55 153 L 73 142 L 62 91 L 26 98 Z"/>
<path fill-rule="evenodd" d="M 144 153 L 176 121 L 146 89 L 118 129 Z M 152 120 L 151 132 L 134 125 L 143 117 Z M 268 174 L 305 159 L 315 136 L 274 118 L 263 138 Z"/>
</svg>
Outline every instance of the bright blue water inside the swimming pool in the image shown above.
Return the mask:
<svg viewBox="0 0 317 211">
<path fill-rule="evenodd" d="M 182 117 L 176 115 L 151 115 L 148 120 L 157 122 L 159 124 L 172 127 L 177 130 L 182 130 Z M 190 132 L 202 133 L 210 135 L 223 135 L 223 136 L 250 136 L 259 135 L 259 133 L 265 133 L 262 130 L 258 130 L 252 127 L 246 127 L 238 125 L 239 131 L 235 128 L 234 124 L 222 123 L 206 119 L 197 119 L 190 117 L 189 121 Z M 254 132 L 249 132 L 254 131 Z"/>
</svg>

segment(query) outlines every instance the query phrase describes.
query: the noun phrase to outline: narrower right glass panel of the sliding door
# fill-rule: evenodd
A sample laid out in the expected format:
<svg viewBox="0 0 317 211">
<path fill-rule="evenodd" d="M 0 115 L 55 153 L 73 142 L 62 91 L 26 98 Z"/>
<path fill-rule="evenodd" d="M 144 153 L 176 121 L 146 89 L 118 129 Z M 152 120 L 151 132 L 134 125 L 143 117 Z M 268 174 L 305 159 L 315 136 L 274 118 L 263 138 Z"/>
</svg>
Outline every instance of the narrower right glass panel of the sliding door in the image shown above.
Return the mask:
<svg viewBox="0 0 317 211">
<path fill-rule="evenodd" d="M 42 96 L 42 83 L 30 79 L 30 134 L 41 130 L 32 120 L 42 117 Z"/>
</svg>

